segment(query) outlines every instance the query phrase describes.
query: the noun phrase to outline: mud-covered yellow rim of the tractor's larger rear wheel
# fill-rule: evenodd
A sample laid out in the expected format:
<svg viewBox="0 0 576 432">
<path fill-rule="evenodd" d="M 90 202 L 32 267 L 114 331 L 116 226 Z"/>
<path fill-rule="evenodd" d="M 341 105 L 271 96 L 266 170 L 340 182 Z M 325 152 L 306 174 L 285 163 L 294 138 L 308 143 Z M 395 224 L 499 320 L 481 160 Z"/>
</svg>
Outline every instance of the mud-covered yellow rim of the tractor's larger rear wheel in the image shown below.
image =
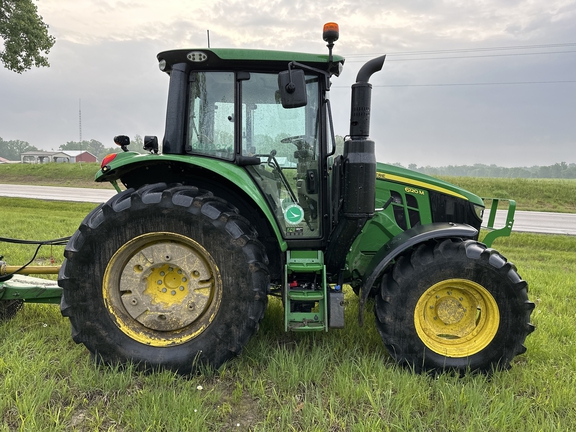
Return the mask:
<svg viewBox="0 0 576 432">
<path fill-rule="evenodd" d="M 220 308 L 222 278 L 199 243 L 154 232 L 116 251 L 104 272 L 102 295 L 122 332 L 165 347 L 194 339 L 210 325 Z"/>
</svg>

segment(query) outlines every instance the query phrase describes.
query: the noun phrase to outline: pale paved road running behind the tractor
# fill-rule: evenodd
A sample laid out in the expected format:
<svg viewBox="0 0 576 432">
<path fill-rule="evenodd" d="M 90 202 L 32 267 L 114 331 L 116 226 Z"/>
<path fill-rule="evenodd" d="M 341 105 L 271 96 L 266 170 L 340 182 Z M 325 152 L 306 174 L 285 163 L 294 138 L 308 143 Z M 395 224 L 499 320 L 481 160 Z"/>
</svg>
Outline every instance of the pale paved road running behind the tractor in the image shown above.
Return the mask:
<svg viewBox="0 0 576 432">
<path fill-rule="evenodd" d="M 115 193 L 116 191 L 111 189 L 0 184 L 0 196 L 16 198 L 101 203 L 107 201 Z M 488 217 L 487 214 L 486 217 Z M 498 212 L 495 227 L 503 226 L 505 217 L 505 212 Z M 576 214 L 517 211 L 513 230 L 576 235 Z"/>
</svg>

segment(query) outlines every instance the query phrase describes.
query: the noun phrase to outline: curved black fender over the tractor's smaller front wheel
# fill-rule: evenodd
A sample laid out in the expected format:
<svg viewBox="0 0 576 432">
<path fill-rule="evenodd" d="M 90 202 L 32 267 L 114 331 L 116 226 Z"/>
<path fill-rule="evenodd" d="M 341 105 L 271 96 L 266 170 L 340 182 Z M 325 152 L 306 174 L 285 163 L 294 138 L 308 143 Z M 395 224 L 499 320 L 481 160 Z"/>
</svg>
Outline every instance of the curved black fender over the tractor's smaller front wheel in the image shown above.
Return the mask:
<svg viewBox="0 0 576 432">
<path fill-rule="evenodd" d="M 372 286 L 378 276 L 382 274 L 394 258 L 405 250 L 428 240 L 447 237 L 473 238 L 477 234 L 478 230 L 470 225 L 452 222 L 435 222 L 415 226 L 393 237 L 376 252 L 376 255 L 374 255 L 374 258 L 372 258 L 368 264 L 364 277 L 362 278 L 360 307 L 358 310 L 358 323 L 360 326 L 364 324 L 364 308 Z"/>
</svg>

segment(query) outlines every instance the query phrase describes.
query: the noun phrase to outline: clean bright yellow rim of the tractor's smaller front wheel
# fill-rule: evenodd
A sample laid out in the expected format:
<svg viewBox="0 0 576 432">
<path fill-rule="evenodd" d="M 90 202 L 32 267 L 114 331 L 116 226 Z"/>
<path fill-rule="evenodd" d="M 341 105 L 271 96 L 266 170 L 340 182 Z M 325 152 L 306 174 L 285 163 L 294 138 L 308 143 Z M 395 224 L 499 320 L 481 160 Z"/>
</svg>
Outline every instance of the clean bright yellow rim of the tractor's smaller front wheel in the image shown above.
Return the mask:
<svg viewBox="0 0 576 432">
<path fill-rule="evenodd" d="M 468 357 L 494 339 L 500 325 L 496 300 L 486 288 L 466 279 L 448 279 L 428 288 L 418 300 L 414 325 L 422 342 L 446 357 Z"/>
</svg>

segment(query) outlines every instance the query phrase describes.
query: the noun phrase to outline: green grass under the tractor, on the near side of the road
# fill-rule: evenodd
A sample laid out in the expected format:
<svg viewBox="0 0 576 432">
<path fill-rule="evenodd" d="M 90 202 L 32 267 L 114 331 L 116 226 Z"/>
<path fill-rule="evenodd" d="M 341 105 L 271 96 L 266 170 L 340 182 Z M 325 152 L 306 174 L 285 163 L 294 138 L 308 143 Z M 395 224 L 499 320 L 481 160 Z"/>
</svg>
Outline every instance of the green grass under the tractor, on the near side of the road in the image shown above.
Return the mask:
<svg viewBox="0 0 576 432">
<path fill-rule="evenodd" d="M 1 234 L 69 235 L 94 206 L 0 198 Z M 57 306 L 27 304 L 0 324 L 0 431 L 576 430 L 575 242 L 517 233 L 495 242 L 529 282 L 537 330 L 512 369 L 491 377 L 398 367 L 373 314 L 358 326 L 352 293 L 346 328 L 322 334 L 285 333 L 272 299 L 238 358 L 191 378 L 96 366 Z M 0 247 L 9 264 L 31 253 Z"/>
</svg>

